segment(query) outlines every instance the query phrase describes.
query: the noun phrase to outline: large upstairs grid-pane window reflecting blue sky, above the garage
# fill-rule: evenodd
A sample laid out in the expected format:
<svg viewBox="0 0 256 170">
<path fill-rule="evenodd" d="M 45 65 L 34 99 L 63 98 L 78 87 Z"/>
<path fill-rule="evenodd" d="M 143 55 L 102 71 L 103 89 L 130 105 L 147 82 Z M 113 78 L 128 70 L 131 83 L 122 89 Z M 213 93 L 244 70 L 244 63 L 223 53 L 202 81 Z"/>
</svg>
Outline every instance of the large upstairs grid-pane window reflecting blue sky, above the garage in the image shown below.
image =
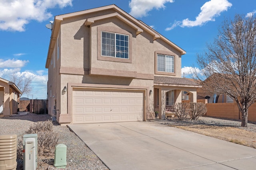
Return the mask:
<svg viewBox="0 0 256 170">
<path fill-rule="evenodd" d="M 101 33 L 101 55 L 129 59 L 129 36 L 118 33 Z"/>
</svg>

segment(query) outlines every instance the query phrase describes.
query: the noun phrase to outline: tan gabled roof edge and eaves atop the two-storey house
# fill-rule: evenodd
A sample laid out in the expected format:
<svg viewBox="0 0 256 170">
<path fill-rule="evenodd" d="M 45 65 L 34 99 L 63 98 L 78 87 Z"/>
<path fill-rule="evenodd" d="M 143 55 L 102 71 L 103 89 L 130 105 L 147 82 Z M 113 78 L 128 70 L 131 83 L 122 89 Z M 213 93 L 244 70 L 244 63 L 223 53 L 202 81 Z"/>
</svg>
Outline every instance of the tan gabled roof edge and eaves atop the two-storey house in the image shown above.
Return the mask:
<svg viewBox="0 0 256 170">
<path fill-rule="evenodd" d="M 137 29 L 137 34 L 143 32 L 143 31 L 146 31 L 147 33 L 149 33 L 150 35 L 153 36 L 154 40 L 160 38 L 164 42 L 168 43 L 169 45 L 171 45 L 172 47 L 174 47 L 175 49 L 180 51 L 181 55 L 186 54 L 186 51 L 184 51 L 182 48 L 178 47 L 178 45 L 174 44 L 172 41 L 168 40 L 166 37 L 164 37 L 157 31 L 155 31 L 154 29 L 152 29 L 150 26 L 146 25 L 142 21 L 135 19 L 134 17 L 132 17 L 130 14 L 128 14 L 124 10 L 122 10 L 122 9 L 118 8 L 116 5 L 112 4 L 109 6 L 103 6 L 103 7 L 99 7 L 99 8 L 93 8 L 93 9 L 89 9 L 89 10 L 78 11 L 78 12 L 73 12 L 73 13 L 69 13 L 69 14 L 55 16 L 45 67 L 48 68 L 48 66 L 50 64 L 51 54 L 54 49 L 56 39 L 58 37 L 58 31 L 59 31 L 60 24 L 61 24 L 62 20 L 64 20 L 65 18 L 72 18 L 72 17 L 76 17 L 76 16 L 81 16 L 81 15 L 85 15 L 85 14 L 90 14 L 90 13 L 100 12 L 100 11 L 110 10 L 110 9 L 116 11 L 116 13 L 108 14 L 105 16 L 88 18 L 84 24 L 90 25 L 92 22 L 94 22 L 94 20 L 115 16 L 115 17 L 118 17 L 120 20 L 126 22 L 128 25 L 130 25 L 134 29 Z"/>
</svg>

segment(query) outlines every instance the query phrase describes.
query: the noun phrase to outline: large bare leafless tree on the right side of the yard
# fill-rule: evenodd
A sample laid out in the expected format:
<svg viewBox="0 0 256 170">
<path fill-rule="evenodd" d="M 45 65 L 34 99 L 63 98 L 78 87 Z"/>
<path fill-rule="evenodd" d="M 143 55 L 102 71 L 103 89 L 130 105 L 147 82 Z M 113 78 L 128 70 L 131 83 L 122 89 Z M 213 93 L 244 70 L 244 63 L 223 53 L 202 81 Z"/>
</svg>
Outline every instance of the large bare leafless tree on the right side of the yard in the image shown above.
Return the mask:
<svg viewBox="0 0 256 170">
<path fill-rule="evenodd" d="M 197 56 L 206 78 L 202 86 L 232 97 L 242 113 L 241 126 L 247 127 L 248 108 L 256 101 L 256 18 L 237 14 L 234 20 L 224 20 L 207 49 Z"/>
</svg>

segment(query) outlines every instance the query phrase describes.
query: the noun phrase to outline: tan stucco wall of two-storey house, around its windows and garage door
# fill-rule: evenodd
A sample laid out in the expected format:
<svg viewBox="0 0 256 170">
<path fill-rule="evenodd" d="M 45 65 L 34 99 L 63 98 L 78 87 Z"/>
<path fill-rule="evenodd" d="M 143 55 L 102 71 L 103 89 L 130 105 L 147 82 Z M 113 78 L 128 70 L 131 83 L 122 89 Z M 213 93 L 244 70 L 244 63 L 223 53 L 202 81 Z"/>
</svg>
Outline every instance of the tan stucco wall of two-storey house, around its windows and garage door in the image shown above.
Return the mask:
<svg viewBox="0 0 256 170">
<path fill-rule="evenodd" d="M 175 75 L 181 77 L 181 54 L 178 50 L 170 47 L 165 41 L 153 40 L 153 35 L 143 31 L 136 35 L 136 29 L 128 23 L 116 17 L 97 20 L 92 25 L 84 25 L 87 18 L 101 16 L 116 12 L 105 10 L 101 12 L 80 15 L 73 18 L 65 18 L 61 21 L 60 36 L 60 59 L 56 60 L 56 67 L 51 64 L 48 70 L 48 100 L 49 114 L 52 115 L 53 106 L 56 100 L 56 109 L 62 116 L 69 113 L 71 104 L 71 89 L 68 84 L 112 84 L 114 86 L 132 86 L 133 88 L 144 87 L 146 89 L 146 116 L 147 119 L 154 118 L 154 94 L 148 94 L 149 90 L 154 90 L 155 74 L 155 52 L 167 51 L 176 54 Z M 101 41 L 100 31 L 110 31 L 129 35 L 129 60 L 124 61 L 110 59 L 111 57 L 99 58 Z M 58 39 L 56 39 L 58 41 Z M 56 43 L 55 40 L 55 43 Z M 54 53 L 54 52 L 53 52 Z M 55 50 L 56 53 L 56 50 Z M 50 54 L 52 57 L 54 55 Z M 104 75 L 104 76 L 102 76 Z M 159 74 L 158 74 L 159 76 Z M 165 75 L 168 76 L 168 75 Z M 66 86 L 67 92 L 64 92 Z M 50 90 L 52 95 L 50 96 Z M 54 98 L 53 98 L 54 95 Z M 70 118 L 67 118 L 68 120 Z M 57 117 L 58 121 L 62 121 Z M 63 119 L 65 122 L 65 120 Z M 65 122 L 68 123 L 68 122 Z"/>
</svg>

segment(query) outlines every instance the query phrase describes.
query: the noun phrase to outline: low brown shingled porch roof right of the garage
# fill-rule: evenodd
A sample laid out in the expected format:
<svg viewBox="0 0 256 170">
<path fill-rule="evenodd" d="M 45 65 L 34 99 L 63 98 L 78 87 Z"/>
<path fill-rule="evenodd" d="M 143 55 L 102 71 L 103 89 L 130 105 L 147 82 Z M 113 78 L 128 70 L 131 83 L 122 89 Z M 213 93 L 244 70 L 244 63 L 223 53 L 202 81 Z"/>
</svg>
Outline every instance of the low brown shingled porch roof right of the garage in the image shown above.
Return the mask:
<svg viewBox="0 0 256 170">
<path fill-rule="evenodd" d="M 154 76 L 154 83 L 159 85 L 166 84 L 167 86 L 200 87 L 200 85 L 194 81 L 178 77 Z"/>
</svg>

